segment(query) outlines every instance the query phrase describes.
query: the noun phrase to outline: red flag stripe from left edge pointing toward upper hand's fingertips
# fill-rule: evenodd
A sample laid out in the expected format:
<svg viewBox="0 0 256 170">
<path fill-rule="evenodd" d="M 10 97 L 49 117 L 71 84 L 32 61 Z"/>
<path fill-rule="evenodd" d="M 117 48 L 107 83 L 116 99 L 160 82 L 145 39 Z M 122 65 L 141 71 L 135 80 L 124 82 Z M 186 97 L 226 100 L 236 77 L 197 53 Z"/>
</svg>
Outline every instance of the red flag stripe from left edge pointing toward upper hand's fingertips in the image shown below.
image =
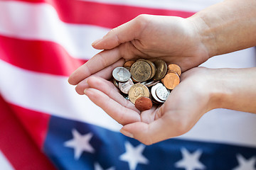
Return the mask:
<svg viewBox="0 0 256 170">
<path fill-rule="evenodd" d="M 70 76 L 85 60 L 78 60 L 55 42 L 21 40 L 0 35 L 0 59 L 35 72 Z"/>
</svg>

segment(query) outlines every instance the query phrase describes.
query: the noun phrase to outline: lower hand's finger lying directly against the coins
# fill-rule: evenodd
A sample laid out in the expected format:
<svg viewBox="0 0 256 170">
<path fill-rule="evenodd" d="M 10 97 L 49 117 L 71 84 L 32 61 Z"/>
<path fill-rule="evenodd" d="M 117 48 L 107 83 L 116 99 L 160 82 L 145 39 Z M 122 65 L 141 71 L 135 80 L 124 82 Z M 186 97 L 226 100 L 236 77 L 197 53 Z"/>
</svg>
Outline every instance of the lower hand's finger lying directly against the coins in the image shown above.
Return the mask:
<svg viewBox="0 0 256 170">
<path fill-rule="evenodd" d="M 117 89 L 116 86 L 114 86 L 114 84 L 112 84 L 112 82 L 102 79 L 100 77 L 90 77 L 88 78 L 87 83 L 91 88 L 102 91 L 103 93 L 105 93 L 107 96 L 110 96 L 110 98 L 112 98 L 114 101 L 116 101 L 120 105 L 126 108 L 130 108 L 133 111 L 136 111 L 137 113 L 139 113 L 138 109 L 135 108 L 132 102 L 130 102 L 129 100 L 124 98 L 124 96 L 119 94 L 119 90 Z"/>
</svg>

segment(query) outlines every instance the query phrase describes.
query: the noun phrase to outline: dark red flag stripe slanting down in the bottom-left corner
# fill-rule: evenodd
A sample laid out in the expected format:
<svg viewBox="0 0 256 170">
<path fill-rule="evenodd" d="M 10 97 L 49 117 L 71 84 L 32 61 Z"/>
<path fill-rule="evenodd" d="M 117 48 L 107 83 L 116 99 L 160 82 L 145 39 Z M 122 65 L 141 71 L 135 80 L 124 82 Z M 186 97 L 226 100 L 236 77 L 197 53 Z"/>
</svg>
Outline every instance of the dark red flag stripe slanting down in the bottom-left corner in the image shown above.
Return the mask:
<svg viewBox="0 0 256 170">
<path fill-rule="evenodd" d="M 0 96 L 0 149 L 15 169 L 55 169 Z"/>
</svg>

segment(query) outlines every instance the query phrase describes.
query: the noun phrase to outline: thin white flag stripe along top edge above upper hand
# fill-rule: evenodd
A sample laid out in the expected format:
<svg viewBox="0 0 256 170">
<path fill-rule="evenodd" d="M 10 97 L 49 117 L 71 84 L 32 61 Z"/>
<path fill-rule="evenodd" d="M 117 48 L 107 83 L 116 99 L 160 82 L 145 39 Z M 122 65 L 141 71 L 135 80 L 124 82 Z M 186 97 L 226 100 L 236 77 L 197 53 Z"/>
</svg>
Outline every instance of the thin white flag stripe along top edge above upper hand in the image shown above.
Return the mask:
<svg viewBox="0 0 256 170">
<path fill-rule="evenodd" d="M 174 9 L 181 11 L 201 11 L 210 5 L 216 4 L 221 0 L 80 0 L 80 1 L 92 1 L 105 4 L 119 4 L 129 6 L 140 6 L 146 8 L 161 8 L 161 9 Z"/>
</svg>

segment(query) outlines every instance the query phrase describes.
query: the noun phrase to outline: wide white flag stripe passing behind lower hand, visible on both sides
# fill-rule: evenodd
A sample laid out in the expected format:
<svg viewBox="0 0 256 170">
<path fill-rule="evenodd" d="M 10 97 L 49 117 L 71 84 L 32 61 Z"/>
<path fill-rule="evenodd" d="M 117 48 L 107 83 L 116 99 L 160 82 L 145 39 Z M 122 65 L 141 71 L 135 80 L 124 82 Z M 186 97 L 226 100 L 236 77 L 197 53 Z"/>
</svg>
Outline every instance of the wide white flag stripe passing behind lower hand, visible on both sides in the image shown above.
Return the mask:
<svg viewBox="0 0 256 170">
<path fill-rule="evenodd" d="M 0 92 L 10 103 L 108 130 L 121 128 L 86 96 L 76 94 L 67 82 L 68 77 L 26 71 L 1 60 L 0 68 Z M 190 132 L 179 138 L 256 146 L 255 122 L 254 114 L 216 109 L 206 113 Z"/>
</svg>

